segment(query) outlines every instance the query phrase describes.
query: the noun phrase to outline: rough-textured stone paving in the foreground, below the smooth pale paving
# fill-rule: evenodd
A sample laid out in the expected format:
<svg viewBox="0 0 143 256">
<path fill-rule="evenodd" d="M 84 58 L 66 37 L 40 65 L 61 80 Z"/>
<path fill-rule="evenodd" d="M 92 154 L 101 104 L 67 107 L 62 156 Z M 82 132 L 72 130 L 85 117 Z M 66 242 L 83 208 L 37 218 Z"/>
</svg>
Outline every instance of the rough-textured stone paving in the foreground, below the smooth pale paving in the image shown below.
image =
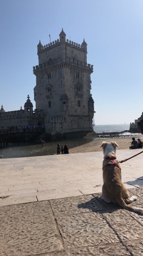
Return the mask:
<svg viewBox="0 0 143 256">
<path fill-rule="evenodd" d="M 143 187 L 129 192 L 143 208 Z M 143 255 L 143 216 L 100 196 L 0 207 L 0 255 Z"/>
</svg>

